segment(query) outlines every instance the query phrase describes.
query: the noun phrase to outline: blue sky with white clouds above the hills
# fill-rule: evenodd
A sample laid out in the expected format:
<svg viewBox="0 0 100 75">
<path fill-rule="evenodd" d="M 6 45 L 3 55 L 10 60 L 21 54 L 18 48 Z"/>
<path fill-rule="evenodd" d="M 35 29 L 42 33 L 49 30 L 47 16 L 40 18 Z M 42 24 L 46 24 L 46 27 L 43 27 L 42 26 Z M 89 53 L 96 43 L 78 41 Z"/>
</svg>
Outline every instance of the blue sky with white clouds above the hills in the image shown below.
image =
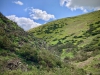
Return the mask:
<svg viewBox="0 0 100 75">
<path fill-rule="evenodd" d="M 0 12 L 25 31 L 96 10 L 100 10 L 100 0 L 0 0 Z"/>
</svg>

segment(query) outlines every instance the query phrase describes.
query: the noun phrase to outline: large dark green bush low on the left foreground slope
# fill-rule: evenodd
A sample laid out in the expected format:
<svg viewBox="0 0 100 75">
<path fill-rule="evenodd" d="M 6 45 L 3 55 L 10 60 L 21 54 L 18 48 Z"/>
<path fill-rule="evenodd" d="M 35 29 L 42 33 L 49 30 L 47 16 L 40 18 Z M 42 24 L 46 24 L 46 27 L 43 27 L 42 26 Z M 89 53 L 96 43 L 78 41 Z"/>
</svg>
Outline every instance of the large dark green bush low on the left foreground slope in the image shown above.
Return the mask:
<svg viewBox="0 0 100 75">
<path fill-rule="evenodd" d="M 61 61 L 55 55 L 51 54 L 51 52 L 44 49 L 38 50 L 29 45 L 24 45 L 18 53 L 26 61 L 30 61 L 36 65 L 49 68 L 61 67 Z"/>
</svg>

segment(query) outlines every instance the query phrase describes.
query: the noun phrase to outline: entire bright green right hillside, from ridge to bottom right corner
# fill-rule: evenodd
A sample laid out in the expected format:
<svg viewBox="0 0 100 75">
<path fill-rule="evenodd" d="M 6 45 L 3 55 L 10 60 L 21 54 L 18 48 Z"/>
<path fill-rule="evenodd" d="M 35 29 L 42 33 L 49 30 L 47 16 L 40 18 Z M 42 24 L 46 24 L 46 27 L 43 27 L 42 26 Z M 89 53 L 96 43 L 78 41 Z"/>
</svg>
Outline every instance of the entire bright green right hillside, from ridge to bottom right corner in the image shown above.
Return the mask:
<svg viewBox="0 0 100 75">
<path fill-rule="evenodd" d="M 100 11 L 55 20 L 28 32 L 46 41 L 62 61 L 76 66 L 88 62 L 81 68 L 100 74 Z"/>
</svg>

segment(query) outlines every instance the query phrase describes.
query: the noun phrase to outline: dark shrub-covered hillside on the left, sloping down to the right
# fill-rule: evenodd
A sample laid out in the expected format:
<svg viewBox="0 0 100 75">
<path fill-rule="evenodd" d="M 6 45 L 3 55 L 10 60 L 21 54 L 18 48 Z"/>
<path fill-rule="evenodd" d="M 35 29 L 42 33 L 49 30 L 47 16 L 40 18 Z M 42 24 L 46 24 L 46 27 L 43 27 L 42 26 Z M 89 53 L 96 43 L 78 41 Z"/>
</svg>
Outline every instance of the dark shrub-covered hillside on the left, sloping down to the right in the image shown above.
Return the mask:
<svg viewBox="0 0 100 75">
<path fill-rule="evenodd" d="M 85 75 L 0 13 L 0 75 Z"/>
</svg>

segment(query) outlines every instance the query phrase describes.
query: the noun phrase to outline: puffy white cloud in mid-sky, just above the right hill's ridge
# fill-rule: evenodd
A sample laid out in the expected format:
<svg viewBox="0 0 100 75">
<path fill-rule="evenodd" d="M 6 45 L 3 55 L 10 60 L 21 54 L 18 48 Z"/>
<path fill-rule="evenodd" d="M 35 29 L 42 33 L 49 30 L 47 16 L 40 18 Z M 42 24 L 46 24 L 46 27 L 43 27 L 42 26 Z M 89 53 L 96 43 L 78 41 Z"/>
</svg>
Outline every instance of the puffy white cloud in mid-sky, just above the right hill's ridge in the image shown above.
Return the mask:
<svg viewBox="0 0 100 75">
<path fill-rule="evenodd" d="M 44 21 L 48 21 L 50 19 L 55 19 L 54 15 L 48 14 L 46 11 L 43 11 L 43 10 L 40 10 L 40 9 L 34 9 L 34 8 L 31 8 L 29 10 L 31 11 L 30 17 L 32 19 L 35 19 L 35 20 L 42 19 Z"/>
</svg>

